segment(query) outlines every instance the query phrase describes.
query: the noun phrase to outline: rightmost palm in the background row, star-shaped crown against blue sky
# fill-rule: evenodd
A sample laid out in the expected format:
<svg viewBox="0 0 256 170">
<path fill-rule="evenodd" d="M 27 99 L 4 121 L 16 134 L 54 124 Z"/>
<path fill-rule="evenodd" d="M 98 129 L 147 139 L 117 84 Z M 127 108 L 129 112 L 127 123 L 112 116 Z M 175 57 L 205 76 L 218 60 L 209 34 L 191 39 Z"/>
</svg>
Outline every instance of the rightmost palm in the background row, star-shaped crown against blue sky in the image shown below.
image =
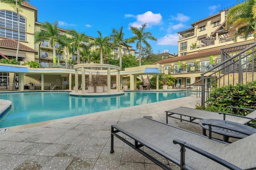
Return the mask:
<svg viewBox="0 0 256 170">
<path fill-rule="evenodd" d="M 132 30 L 132 34 L 134 34 L 135 36 L 131 37 L 127 40 L 128 43 L 135 43 L 135 41 L 137 41 L 136 48 L 139 49 L 139 66 L 141 65 L 141 46 L 142 46 L 142 44 L 145 44 L 146 47 L 149 48 L 151 46 L 147 42 L 147 39 L 157 41 L 157 39 L 154 38 L 150 32 L 144 32 L 146 27 L 147 27 L 146 23 L 142 24 L 140 29 L 130 26 L 130 29 Z"/>
</svg>

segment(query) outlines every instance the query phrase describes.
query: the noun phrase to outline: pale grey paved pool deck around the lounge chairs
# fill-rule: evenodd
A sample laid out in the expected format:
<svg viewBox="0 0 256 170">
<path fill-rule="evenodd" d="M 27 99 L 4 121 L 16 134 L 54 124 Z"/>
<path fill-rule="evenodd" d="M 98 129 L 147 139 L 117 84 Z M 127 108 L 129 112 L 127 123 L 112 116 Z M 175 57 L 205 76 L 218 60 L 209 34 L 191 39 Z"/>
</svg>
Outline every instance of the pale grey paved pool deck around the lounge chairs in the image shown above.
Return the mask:
<svg viewBox="0 0 256 170">
<path fill-rule="evenodd" d="M 8 131 L 0 132 L 0 169 L 160 170 L 159 166 L 119 139 L 114 142 L 115 152 L 110 154 L 110 126 L 143 116 L 165 122 L 164 111 L 180 106 L 194 108 L 197 102 L 200 98 L 190 96 L 9 127 Z M 168 121 L 170 125 L 201 133 L 199 125 L 171 118 Z M 146 147 L 144 150 L 154 154 Z M 165 158 L 157 158 L 170 168 L 179 169 Z"/>
</svg>

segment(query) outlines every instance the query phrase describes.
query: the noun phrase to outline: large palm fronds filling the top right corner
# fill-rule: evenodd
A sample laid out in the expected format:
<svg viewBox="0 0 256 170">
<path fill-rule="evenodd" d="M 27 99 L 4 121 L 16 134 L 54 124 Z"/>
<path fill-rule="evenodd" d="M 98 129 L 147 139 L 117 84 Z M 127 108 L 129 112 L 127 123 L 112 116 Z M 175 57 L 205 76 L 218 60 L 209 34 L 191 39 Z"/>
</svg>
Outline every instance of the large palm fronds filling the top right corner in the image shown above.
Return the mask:
<svg viewBox="0 0 256 170">
<path fill-rule="evenodd" d="M 230 29 L 234 42 L 241 34 L 244 34 L 244 39 L 247 40 L 251 32 L 256 30 L 255 8 L 255 0 L 246 0 L 228 11 L 226 28 Z"/>
</svg>

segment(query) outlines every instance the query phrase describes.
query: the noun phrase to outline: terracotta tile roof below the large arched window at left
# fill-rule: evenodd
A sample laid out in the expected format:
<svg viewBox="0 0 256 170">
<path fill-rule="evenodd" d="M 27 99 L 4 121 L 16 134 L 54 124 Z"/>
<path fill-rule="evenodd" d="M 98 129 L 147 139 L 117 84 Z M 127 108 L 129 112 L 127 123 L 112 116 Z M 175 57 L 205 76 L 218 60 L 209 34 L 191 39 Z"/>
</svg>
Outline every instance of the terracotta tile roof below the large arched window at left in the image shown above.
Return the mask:
<svg viewBox="0 0 256 170">
<path fill-rule="evenodd" d="M 13 39 L 4 39 L 0 40 L 0 47 L 5 47 L 5 48 L 12 48 L 12 49 L 17 49 L 18 42 Z M 35 49 L 28 47 L 27 45 L 24 45 L 20 43 L 20 50 L 24 51 L 32 51 L 32 52 L 37 52 Z"/>
</svg>

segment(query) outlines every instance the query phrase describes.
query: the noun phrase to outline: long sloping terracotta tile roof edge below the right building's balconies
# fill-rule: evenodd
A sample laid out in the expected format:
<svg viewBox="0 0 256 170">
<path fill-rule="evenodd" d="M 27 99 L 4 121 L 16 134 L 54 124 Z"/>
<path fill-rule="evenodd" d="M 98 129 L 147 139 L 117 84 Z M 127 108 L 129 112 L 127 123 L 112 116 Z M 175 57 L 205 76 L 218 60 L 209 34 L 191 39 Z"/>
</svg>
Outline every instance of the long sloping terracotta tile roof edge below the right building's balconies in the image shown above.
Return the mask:
<svg viewBox="0 0 256 170">
<path fill-rule="evenodd" d="M 225 51 L 240 51 L 242 49 L 245 49 L 248 46 L 249 45 L 241 45 L 241 46 L 237 46 L 237 47 L 225 48 Z M 153 64 L 171 63 L 171 62 L 175 62 L 175 61 L 183 61 L 183 60 L 189 60 L 189 59 L 195 59 L 195 58 L 207 57 L 207 56 L 210 57 L 211 55 L 217 55 L 217 54 L 220 54 L 220 48 L 219 49 L 212 49 L 212 50 L 209 50 L 209 51 L 202 51 L 202 52 L 189 54 L 189 55 L 183 55 L 183 56 L 179 56 L 179 57 L 172 57 L 172 58 L 168 58 L 168 59 L 163 59 L 163 60 L 158 61 L 158 62 L 153 63 Z"/>
</svg>

